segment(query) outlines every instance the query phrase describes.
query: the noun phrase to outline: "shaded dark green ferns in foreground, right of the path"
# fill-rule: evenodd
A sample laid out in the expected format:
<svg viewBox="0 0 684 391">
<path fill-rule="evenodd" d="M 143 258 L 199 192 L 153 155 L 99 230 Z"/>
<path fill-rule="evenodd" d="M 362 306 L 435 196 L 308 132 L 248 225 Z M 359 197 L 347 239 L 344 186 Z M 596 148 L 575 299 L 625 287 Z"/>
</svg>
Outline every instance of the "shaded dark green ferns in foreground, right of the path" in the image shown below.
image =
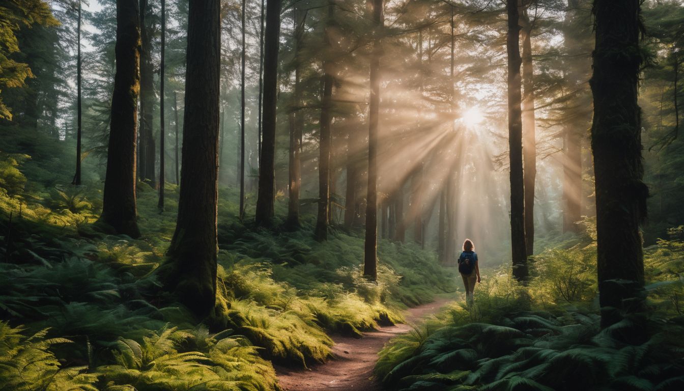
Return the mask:
<svg viewBox="0 0 684 391">
<path fill-rule="evenodd" d="M 659 326 L 633 345 L 620 342 L 617 329 L 599 332 L 599 316 L 582 312 L 515 312 L 498 323 L 449 322 L 421 340 L 394 340 L 376 375 L 397 390 L 425 379 L 430 390 L 651 390 L 676 383 L 684 369 L 676 358 L 683 345 L 672 338 L 681 325 Z"/>
</svg>

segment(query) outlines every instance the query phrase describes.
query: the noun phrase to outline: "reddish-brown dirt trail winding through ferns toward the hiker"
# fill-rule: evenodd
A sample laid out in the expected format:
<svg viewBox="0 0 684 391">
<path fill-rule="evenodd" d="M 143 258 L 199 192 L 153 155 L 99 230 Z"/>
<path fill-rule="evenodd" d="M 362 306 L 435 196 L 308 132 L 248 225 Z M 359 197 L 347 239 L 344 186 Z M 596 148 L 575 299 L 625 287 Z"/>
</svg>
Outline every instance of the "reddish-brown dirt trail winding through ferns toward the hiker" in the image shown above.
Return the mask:
<svg viewBox="0 0 684 391">
<path fill-rule="evenodd" d="M 434 314 L 453 300 L 437 299 L 432 303 L 410 308 L 406 320 L 412 323 Z M 286 391 L 380 391 L 380 384 L 370 379 L 373 366 L 378 360 L 378 352 L 391 338 L 410 329 L 411 326 L 408 324 L 380 327 L 377 331 L 364 333 L 361 339 L 332 336 L 335 342 L 332 347 L 335 357 L 333 360 L 312 366 L 310 370 L 276 366 L 280 386 Z"/>
</svg>

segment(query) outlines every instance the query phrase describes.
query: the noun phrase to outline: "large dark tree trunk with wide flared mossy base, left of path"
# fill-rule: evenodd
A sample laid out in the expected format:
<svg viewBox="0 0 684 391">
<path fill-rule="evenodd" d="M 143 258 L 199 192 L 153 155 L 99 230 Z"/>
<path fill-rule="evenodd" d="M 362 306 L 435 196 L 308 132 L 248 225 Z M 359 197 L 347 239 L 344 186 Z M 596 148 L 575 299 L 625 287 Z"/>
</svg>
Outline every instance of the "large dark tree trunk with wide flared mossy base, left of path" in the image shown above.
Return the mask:
<svg viewBox="0 0 684 391">
<path fill-rule="evenodd" d="M 220 0 L 191 1 L 178 220 L 159 275 L 198 316 L 216 293 L 220 45 Z"/>
</svg>

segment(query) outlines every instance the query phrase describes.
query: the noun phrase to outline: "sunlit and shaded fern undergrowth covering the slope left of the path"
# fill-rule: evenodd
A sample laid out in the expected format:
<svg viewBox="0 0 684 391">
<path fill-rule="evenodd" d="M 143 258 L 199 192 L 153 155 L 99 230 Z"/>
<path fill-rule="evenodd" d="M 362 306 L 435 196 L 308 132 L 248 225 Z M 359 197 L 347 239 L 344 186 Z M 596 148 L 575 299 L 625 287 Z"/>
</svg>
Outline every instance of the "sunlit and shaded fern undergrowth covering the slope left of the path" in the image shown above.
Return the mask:
<svg viewBox="0 0 684 391">
<path fill-rule="evenodd" d="M 319 244 L 306 217 L 296 231 L 254 229 L 222 189 L 217 303 L 196 319 L 153 273 L 173 234 L 175 185 L 160 213 L 156 190 L 138 184 L 133 240 L 90 229 L 96 177 L 77 188 L 6 153 L 0 173 L 0 384 L 12 390 L 278 390 L 269 360 L 324 362 L 329 333 L 360 337 L 455 290 L 434 253 L 386 241 L 371 283 L 358 233 L 333 229 Z"/>
</svg>

